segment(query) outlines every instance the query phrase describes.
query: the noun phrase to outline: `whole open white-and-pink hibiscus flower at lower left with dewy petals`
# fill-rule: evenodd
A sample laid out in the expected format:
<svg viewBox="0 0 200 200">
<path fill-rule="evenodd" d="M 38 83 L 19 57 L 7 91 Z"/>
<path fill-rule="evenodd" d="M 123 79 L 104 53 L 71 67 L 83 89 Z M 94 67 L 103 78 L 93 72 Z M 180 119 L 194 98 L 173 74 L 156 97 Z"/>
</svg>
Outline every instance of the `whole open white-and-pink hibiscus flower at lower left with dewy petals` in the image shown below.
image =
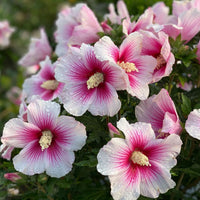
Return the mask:
<svg viewBox="0 0 200 200">
<path fill-rule="evenodd" d="M 26 175 L 46 171 L 57 178 L 69 173 L 73 151 L 85 144 L 86 131 L 73 117 L 58 117 L 59 113 L 59 104 L 36 100 L 27 107 L 27 122 L 14 118 L 5 124 L 2 143 L 23 148 L 13 158 L 17 171 Z"/>
</svg>

